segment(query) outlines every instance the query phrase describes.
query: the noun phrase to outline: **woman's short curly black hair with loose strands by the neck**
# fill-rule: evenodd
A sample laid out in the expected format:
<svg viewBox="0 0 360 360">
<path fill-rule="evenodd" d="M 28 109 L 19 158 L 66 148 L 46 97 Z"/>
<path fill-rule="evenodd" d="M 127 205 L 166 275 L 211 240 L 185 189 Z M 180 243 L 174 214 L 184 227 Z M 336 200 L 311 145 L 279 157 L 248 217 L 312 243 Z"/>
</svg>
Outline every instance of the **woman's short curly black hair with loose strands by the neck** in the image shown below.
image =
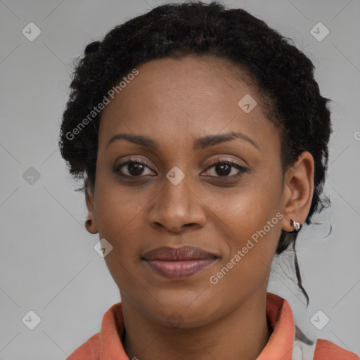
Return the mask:
<svg viewBox="0 0 360 360">
<path fill-rule="evenodd" d="M 149 60 L 217 56 L 238 65 L 256 86 L 266 104 L 266 117 L 281 136 L 283 174 L 302 152 L 313 156 L 314 194 L 306 219 L 311 224 L 312 215 L 330 204 L 323 194 L 333 131 L 327 107 L 330 99 L 320 95 L 313 63 L 291 41 L 241 8 L 229 9 L 219 1 L 187 1 L 153 8 L 117 25 L 103 41 L 88 44 L 72 77 L 59 139 L 70 174 L 84 180 L 77 190 L 86 191 L 89 182 L 95 184 L 101 111 L 94 113 L 94 109 L 109 89 Z M 89 119 L 91 112 L 93 119 Z M 293 244 L 297 285 L 309 304 L 297 263 L 297 234 L 282 231 L 276 255 Z"/>
</svg>

